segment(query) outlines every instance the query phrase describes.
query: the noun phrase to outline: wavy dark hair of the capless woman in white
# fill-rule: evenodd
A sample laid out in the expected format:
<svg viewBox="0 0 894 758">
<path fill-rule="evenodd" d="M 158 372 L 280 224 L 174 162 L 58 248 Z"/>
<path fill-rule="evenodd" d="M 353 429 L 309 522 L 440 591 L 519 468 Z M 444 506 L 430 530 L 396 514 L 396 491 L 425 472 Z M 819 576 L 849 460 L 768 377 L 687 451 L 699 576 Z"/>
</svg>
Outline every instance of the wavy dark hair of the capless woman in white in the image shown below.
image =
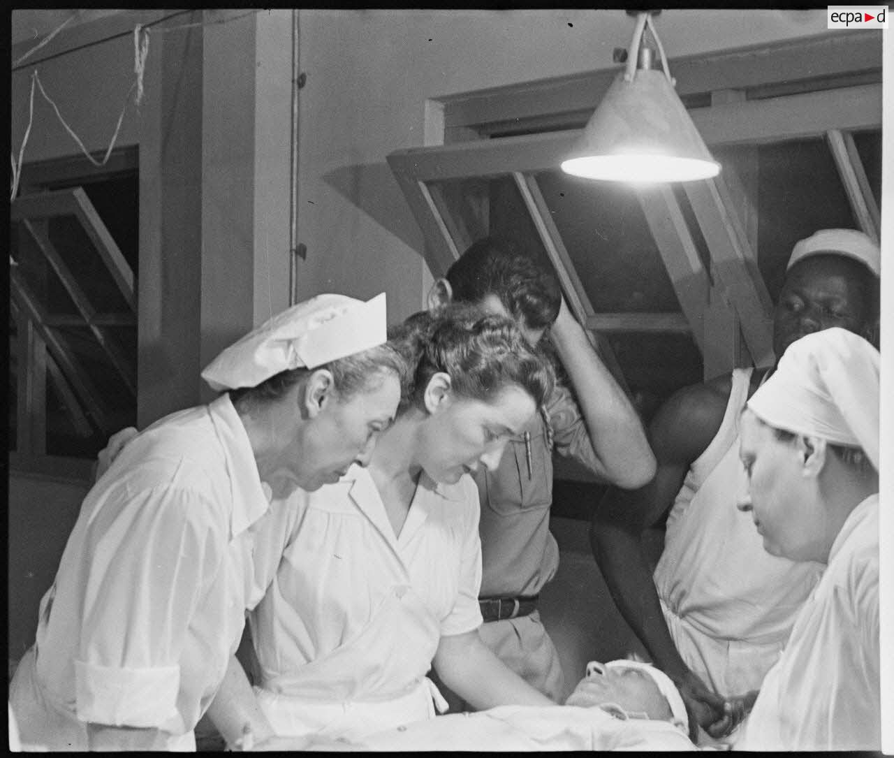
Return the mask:
<svg viewBox="0 0 894 758">
<path fill-rule="evenodd" d="M 515 385 L 541 406 L 552 392 L 552 365 L 527 344 L 518 325 L 469 304 L 409 316 L 392 327 L 389 338 L 404 360 L 416 366 L 412 380 L 402 388 L 399 415 L 414 405 L 421 407 L 428 382 L 437 372 L 451 377 L 458 396 L 473 400 L 493 400 Z"/>
</svg>

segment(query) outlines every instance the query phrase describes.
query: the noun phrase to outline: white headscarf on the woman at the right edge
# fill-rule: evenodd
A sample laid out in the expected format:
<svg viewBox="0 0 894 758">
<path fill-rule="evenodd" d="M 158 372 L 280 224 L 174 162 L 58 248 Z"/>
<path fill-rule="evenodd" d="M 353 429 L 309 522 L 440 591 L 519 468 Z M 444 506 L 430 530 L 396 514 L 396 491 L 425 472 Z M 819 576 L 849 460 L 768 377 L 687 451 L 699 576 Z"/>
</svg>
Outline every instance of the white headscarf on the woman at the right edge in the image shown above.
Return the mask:
<svg viewBox="0 0 894 758">
<path fill-rule="evenodd" d="M 879 469 L 879 351 L 835 326 L 789 345 L 748 400 L 767 424 L 863 448 Z"/>
</svg>

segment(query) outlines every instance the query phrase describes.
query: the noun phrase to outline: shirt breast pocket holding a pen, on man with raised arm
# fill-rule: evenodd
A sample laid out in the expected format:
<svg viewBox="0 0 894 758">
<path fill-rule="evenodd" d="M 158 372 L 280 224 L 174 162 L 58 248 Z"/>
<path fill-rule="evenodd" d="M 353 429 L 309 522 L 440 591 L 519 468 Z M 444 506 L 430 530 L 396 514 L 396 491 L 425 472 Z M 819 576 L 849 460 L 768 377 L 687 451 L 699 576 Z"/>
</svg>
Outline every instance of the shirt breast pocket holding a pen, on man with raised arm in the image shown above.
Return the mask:
<svg viewBox="0 0 894 758">
<path fill-rule="evenodd" d="M 552 502 L 552 458 L 543 431 L 528 442 L 515 437 L 506 445 L 500 465 L 485 473 L 486 506 L 502 516 L 549 508 Z"/>
</svg>

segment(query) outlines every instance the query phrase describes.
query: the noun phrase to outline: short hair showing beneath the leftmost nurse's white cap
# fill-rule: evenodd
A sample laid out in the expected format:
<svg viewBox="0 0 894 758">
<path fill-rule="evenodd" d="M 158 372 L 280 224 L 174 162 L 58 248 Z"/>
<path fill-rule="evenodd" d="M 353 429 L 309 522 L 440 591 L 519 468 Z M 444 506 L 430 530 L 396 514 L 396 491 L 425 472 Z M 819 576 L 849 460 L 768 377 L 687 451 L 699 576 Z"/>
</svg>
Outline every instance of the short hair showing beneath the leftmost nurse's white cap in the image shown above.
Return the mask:
<svg viewBox="0 0 894 758">
<path fill-rule="evenodd" d="M 415 366 L 414 366 L 415 367 Z M 274 374 L 257 387 L 240 387 L 230 391 L 232 404 L 240 410 L 248 410 L 261 403 L 273 402 L 283 397 L 295 384 L 306 376 L 321 368 L 333 375 L 335 392 L 347 400 L 359 392 L 372 392 L 378 389 L 385 375 L 396 374 L 401 385 L 406 381 L 410 366 L 401 352 L 389 343 L 378 345 L 369 350 L 362 350 L 346 358 L 337 358 L 322 366 L 309 368 L 292 368 Z"/>
</svg>

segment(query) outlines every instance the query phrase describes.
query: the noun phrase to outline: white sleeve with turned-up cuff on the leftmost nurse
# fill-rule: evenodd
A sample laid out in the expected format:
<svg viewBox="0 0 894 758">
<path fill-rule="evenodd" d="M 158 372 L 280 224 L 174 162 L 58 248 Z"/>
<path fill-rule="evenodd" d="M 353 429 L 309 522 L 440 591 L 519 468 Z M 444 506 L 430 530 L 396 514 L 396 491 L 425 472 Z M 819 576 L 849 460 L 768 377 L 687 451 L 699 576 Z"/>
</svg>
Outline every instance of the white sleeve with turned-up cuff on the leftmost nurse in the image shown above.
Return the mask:
<svg viewBox="0 0 894 758">
<path fill-rule="evenodd" d="M 85 549 L 80 720 L 159 727 L 176 715 L 180 658 L 197 602 L 223 559 L 225 522 L 200 494 L 126 487 L 98 508 Z"/>
</svg>

